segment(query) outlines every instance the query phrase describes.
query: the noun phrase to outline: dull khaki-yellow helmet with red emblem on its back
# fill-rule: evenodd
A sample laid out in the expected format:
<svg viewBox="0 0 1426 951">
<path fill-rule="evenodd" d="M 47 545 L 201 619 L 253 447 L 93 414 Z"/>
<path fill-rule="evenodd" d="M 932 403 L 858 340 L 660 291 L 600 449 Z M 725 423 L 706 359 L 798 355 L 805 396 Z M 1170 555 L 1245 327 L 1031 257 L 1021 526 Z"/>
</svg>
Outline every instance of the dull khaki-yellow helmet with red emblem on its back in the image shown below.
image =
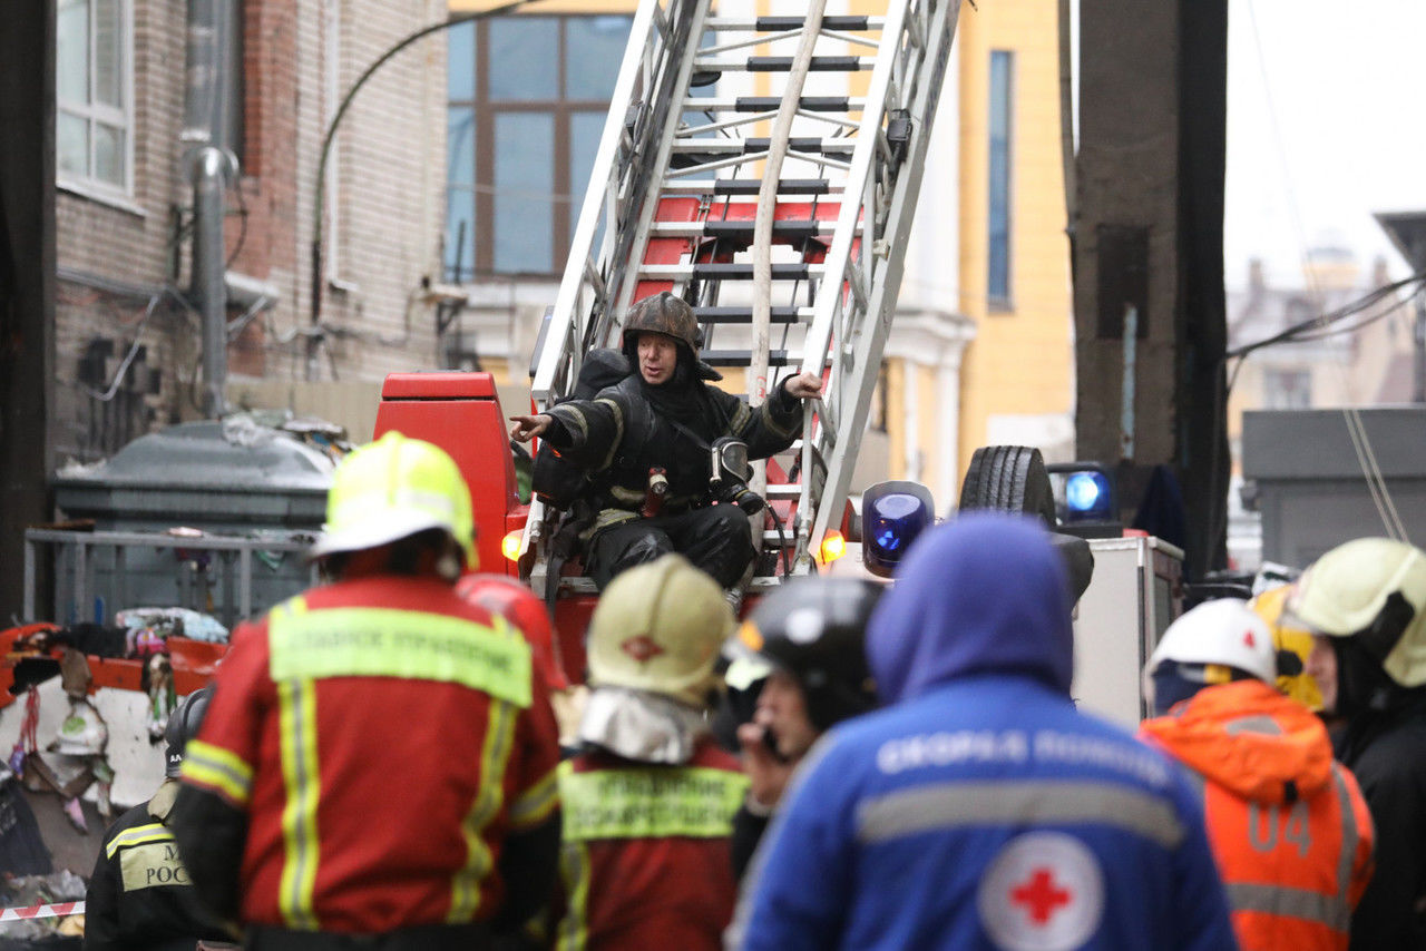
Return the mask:
<svg viewBox="0 0 1426 951">
<path fill-rule="evenodd" d="M 605 589 L 589 620 L 589 686 L 647 690 L 702 707 L 732 632 L 723 589 L 682 555 L 637 565 Z"/>
</svg>

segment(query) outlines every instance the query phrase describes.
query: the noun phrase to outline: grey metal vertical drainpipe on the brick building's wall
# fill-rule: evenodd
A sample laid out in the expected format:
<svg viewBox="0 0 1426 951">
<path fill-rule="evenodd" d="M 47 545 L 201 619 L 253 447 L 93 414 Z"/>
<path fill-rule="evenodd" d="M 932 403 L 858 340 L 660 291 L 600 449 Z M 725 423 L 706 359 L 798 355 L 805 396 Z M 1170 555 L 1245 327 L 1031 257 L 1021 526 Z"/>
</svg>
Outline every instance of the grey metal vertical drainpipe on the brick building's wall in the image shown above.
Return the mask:
<svg viewBox="0 0 1426 951">
<path fill-rule="evenodd" d="M 214 143 L 214 117 L 224 68 L 220 13 L 225 0 L 188 1 L 188 66 L 181 140 L 188 184 L 193 187 L 193 262 L 188 298 L 202 324 L 202 412 L 208 418 L 227 411 L 228 301 L 222 220 L 227 214 L 227 171 L 231 157 Z"/>
</svg>

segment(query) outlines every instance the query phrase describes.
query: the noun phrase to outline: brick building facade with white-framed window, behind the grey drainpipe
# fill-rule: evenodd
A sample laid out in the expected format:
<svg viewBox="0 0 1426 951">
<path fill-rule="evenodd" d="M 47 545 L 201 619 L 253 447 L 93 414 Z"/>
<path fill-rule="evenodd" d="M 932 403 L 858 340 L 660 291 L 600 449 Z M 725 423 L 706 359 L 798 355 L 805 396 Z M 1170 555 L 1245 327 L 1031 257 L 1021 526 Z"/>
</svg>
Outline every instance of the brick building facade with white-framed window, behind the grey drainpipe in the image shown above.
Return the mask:
<svg viewBox="0 0 1426 951">
<path fill-rule="evenodd" d="M 441 0 L 225 0 L 238 67 L 217 84 L 240 174 L 225 192 L 228 396 L 254 384 L 375 382 L 429 368 L 445 190 L 445 43 L 419 40 L 352 101 L 327 171 L 325 279 L 312 345 L 318 155 L 341 97 L 382 53 L 445 20 Z M 225 3 L 220 3 L 222 10 Z M 198 415 L 190 281 L 187 4 L 58 10 L 56 459 L 96 459 Z M 68 78 L 66 78 L 68 76 Z M 245 322 L 242 319 L 247 318 Z"/>
</svg>

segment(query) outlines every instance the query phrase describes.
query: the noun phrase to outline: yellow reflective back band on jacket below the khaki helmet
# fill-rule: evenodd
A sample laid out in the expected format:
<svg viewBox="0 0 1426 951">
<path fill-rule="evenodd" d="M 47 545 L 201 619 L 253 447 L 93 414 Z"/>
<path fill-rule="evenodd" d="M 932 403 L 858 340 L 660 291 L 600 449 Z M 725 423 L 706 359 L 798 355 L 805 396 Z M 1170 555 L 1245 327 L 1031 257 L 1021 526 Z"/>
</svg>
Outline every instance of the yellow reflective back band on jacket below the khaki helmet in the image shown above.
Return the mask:
<svg viewBox="0 0 1426 951">
<path fill-rule="evenodd" d="M 746 791 L 746 776 L 696 766 L 559 770 L 566 841 L 729 836 Z"/>
</svg>

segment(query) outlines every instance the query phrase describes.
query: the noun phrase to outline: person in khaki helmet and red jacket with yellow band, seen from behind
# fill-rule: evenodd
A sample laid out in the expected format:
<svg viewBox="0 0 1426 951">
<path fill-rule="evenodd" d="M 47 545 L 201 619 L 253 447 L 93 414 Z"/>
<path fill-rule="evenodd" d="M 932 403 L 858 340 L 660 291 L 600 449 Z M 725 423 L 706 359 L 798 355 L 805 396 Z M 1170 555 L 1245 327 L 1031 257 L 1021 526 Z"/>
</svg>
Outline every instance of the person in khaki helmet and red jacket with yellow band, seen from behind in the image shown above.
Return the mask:
<svg viewBox="0 0 1426 951">
<path fill-rule="evenodd" d="M 720 947 L 747 778 L 706 711 L 732 627 L 722 589 L 680 555 L 629 569 L 600 597 L 582 751 L 559 771 L 562 951 Z"/>
</svg>

